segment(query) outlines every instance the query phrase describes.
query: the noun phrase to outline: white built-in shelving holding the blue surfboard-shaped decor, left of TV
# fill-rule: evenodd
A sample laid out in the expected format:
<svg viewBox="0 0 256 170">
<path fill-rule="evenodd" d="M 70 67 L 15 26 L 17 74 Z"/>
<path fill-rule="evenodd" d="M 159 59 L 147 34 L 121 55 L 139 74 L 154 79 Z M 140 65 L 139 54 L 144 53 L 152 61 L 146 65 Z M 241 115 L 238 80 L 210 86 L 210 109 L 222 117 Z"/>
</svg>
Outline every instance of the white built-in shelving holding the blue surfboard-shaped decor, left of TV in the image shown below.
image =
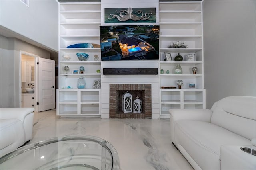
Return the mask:
<svg viewBox="0 0 256 170">
<path fill-rule="evenodd" d="M 78 43 L 100 44 L 100 2 L 60 3 L 59 4 L 59 89 L 57 90 L 57 115 L 62 117 L 100 117 L 101 89 L 94 89 L 94 80 L 100 80 L 100 48 L 67 48 Z M 87 61 L 79 61 L 76 53 L 89 55 Z M 70 56 L 67 61 L 64 55 Z M 64 66 L 69 71 L 64 71 Z M 79 67 L 83 74 L 73 74 Z M 76 87 L 78 78 L 86 80 L 86 88 Z"/>
</svg>

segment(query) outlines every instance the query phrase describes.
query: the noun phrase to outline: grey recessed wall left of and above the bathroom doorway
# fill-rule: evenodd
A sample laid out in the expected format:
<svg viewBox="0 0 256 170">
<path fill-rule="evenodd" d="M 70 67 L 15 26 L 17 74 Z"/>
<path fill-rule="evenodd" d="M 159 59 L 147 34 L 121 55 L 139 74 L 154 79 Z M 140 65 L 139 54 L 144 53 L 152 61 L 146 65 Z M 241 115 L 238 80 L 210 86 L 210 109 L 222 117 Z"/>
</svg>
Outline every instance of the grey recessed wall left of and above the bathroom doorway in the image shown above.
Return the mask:
<svg viewBox="0 0 256 170">
<path fill-rule="evenodd" d="M 15 38 L 1 35 L 0 107 L 20 107 L 20 51 L 50 59 L 50 52 Z"/>
</svg>

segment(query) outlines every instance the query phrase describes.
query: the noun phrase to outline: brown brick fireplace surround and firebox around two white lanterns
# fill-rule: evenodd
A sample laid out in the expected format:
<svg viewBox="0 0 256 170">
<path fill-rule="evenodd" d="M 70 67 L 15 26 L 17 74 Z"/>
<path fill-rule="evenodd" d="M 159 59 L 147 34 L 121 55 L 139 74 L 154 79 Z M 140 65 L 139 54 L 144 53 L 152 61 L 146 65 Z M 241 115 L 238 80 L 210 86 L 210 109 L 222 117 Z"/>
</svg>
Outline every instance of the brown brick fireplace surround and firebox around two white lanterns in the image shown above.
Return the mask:
<svg viewBox="0 0 256 170">
<path fill-rule="evenodd" d="M 109 84 L 110 118 L 152 118 L 151 84 Z M 122 94 L 128 91 L 132 95 L 132 105 L 136 96 L 142 100 L 142 113 L 124 113 L 122 111 Z"/>
</svg>

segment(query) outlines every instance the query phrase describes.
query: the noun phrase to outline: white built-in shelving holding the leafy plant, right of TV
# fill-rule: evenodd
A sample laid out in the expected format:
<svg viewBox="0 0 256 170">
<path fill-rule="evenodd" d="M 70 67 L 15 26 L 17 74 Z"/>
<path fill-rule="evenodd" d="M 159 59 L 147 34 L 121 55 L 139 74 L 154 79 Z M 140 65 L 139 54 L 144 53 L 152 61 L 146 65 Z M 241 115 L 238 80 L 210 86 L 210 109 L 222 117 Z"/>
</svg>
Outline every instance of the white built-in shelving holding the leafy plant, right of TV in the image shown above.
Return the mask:
<svg viewBox="0 0 256 170">
<path fill-rule="evenodd" d="M 188 48 L 169 48 L 172 42 L 184 42 Z M 160 118 L 169 117 L 171 108 L 205 108 L 204 66 L 203 66 L 203 30 L 202 2 L 160 2 Z M 165 54 L 171 53 L 173 61 L 164 61 Z M 174 61 L 177 53 L 183 61 Z M 186 55 L 196 54 L 196 61 L 186 61 Z M 174 74 L 180 64 L 183 74 Z M 193 74 L 192 67 L 198 71 Z M 159 71 L 160 71 L 159 70 Z M 169 70 L 170 74 L 166 74 Z M 177 80 L 184 84 L 178 89 Z M 190 89 L 189 84 L 195 83 L 196 88 Z M 177 89 L 161 89 L 176 86 Z"/>
</svg>

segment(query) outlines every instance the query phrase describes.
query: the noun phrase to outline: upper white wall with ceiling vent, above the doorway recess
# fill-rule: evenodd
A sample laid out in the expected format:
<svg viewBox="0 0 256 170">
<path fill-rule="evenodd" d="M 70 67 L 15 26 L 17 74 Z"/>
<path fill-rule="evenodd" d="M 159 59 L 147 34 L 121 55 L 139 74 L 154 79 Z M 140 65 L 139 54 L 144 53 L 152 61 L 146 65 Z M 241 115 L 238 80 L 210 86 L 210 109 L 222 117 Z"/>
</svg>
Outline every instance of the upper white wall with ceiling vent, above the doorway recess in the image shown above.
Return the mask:
<svg viewBox="0 0 256 170">
<path fill-rule="evenodd" d="M 1 26 L 58 51 L 58 2 L 1 0 Z"/>
</svg>

